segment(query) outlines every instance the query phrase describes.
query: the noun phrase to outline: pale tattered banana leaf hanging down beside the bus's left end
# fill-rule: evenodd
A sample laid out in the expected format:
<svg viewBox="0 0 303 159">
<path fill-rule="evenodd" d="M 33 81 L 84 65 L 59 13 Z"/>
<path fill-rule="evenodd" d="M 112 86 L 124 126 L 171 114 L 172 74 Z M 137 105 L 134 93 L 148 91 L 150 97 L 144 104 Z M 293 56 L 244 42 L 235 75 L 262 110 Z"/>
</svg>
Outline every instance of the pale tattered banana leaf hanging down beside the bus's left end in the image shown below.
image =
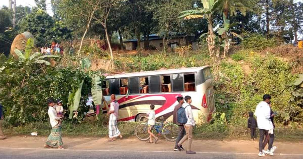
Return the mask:
<svg viewBox="0 0 303 159">
<path fill-rule="evenodd" d="M 92 77 L 92 98 L 95 105 L 101 105 L 102 104 L 102 87 L 99 85 L 101 84 L 101 78 L 97 75 L 95 77 Z"/>
</svg>

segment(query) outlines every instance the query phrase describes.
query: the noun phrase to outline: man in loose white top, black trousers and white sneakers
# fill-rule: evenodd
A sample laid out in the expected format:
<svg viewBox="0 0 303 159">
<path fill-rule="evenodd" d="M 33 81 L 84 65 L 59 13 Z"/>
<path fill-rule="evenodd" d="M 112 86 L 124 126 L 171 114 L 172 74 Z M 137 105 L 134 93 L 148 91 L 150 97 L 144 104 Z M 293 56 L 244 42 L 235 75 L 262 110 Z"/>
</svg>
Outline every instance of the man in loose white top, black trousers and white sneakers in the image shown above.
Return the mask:
<svg viewBox="0 0 303 159">
<path fill-rule="evenodd" d="M 270 107 L 268 103 L 271 100 L 271 96 L 269 94 L 264 94 L 263 95 L 263 101 L 261 101 L 255 110 L 255 116 L 257 117 L 257 123 L 258 123 L 258 128 L 260 131 L 260 139 L 259 139 L 259 154 L 258 156 L 263 157 L 265 156 L 265 153 L 263 151 L 263 140 L 264 136 L 268 134 L 268 131 L 273 129 L 273 126 L 270 121 Z M 272 137 L 273 135 L 270 135 Z M 268 147 L 272 147 L 271 145 L 268 145 Z M 267 152 L 266 154 L 269 154 L 271 156 L 274 156 L 273 151 Z"/>
</svg>

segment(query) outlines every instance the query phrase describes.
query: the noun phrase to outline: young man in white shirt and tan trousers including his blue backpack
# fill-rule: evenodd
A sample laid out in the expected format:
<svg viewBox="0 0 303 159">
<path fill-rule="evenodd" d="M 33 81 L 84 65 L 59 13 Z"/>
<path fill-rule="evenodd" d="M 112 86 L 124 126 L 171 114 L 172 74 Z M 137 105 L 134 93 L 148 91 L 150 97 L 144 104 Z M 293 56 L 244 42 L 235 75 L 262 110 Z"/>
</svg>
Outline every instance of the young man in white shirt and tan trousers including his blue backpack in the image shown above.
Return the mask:
<svg viewBox="0 0 303 159">
<path fill-rule="evenodd" d="M 188 139 L 188 145 L 186 148 L 186 154 L 196 154 L 194 151 L 191 151 L 192 143 L 192 129 L 195 126 L 194 116 L 191 110 L 191 97 L 185 96 L 186 103 L 182 104 L 182 107 L 178 110 L 178 122 L 184 124 L 186 135 L 179 141 L 177 148 L 180 149 L 180 145 L 183 144 L 185 140 Z"/>
</svg>

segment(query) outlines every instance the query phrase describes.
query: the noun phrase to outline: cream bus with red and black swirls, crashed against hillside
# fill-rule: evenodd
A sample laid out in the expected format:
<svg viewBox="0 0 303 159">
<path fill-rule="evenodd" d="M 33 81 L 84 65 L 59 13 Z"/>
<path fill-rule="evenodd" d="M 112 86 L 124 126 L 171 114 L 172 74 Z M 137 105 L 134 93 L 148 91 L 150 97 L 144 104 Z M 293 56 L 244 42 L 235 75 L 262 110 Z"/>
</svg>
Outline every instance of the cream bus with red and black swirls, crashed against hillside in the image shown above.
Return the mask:
<svg viewBox="0 0 303 159">
<path fill-rule="evenodd" d="M 156 119 L 172 121 L 178 96 L 191 96 L 197 123 L 209 121 L 215 112 L 214 88 L 209 66 L 108 75 L 102 82 L 105 100 L 115 94 L 118 121 L 147 121 L 150 105 Z M 106 113 L 104 105 L 103 113 Z"/>
</svg>

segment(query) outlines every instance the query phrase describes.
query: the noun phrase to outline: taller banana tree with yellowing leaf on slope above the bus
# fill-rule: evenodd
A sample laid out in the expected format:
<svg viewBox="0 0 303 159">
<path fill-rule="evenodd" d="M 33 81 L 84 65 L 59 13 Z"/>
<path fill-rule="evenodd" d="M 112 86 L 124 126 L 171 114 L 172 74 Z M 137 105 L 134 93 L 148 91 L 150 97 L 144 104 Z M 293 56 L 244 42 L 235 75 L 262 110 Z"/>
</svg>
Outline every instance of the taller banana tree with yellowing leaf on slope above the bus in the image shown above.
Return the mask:
<svg viewBox="0 0 303 159">
<path fill-rule="evenodd" d="M 212 58 L 217 61 L 220 58 L 220 48 L 215 44 L 215 34 L 213 27 L 213 14 L 217 9 L 217 6 L 222 0 L 201 0 L 203 8 L 197 8 L 195 10 L 187 10 L 181 12 L 179 18 L 184 18 L 185 20 L 193 18 L 205 18 L 208 21 L 208 35 L 206 38 L 208 44 L 208 51 Z"/>
</svg>

